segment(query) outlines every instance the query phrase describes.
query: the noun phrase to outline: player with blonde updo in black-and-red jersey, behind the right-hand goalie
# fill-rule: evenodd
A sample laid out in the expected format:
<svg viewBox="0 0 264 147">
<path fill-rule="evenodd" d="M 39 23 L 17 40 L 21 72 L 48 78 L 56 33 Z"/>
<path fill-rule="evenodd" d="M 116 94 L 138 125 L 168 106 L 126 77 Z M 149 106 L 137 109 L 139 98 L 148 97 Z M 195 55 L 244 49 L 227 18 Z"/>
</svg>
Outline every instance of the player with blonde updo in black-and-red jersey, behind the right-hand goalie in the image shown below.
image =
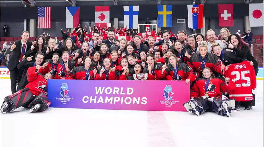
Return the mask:
<svg viewBox="0 0 264 147">
<path fill-rule="evenodd" d="M 219 59 L 216 55 L 207 52 L 207 45 L 205 41 L 201 42 L 199 47 L 199 52 L 195 53 L 188 60 L 187 64 L 198 72 L 197 77 L 199 77 L 199 73 L 205 68 L 209 67 L 211 71 L 222 73 L 225 65 L 222 63 L 221 59 Z"/>
</svg>

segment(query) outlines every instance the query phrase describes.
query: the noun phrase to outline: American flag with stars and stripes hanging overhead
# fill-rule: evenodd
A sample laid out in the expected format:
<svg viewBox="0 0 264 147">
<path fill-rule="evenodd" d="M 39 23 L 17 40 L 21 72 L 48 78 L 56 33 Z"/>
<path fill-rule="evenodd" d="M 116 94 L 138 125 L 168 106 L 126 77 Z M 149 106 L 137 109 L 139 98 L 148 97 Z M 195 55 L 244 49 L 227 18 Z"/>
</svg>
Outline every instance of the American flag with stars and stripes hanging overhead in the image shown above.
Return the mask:
<svg viewBox="0 0 264 147">
<path fill-rule="evenodd" d="M 38 7 L 38 29 L 51 28 L 51 7 Z"/>
</svg>

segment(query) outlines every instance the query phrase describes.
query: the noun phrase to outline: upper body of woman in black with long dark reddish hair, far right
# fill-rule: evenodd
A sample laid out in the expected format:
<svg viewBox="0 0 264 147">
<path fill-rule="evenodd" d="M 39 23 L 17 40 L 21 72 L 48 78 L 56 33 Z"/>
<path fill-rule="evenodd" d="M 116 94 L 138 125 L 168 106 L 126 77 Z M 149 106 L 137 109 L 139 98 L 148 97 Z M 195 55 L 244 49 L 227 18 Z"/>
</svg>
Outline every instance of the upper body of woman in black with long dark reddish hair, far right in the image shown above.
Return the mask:
<svg viewBox="0 0 264 147">
<path fill-rule="evenodd" d="M 232 34 L 228 37 L 228 48 L 231 49 L 231 52 L 236 53 L 239 57 L 245 58 L 249 61 L 253 62 L 253 67 L 255 69 L 255 74 L 257 76 L 257 73 L 259 71 L 259 64 L 255 60 L 255 58 L 252 56 L 250 50 L 249 50 L 249 44 L 247 44 L 243 39 L 237 35 Z M 230 50 L 228 50 L 230 51 Z"/>
</svg>

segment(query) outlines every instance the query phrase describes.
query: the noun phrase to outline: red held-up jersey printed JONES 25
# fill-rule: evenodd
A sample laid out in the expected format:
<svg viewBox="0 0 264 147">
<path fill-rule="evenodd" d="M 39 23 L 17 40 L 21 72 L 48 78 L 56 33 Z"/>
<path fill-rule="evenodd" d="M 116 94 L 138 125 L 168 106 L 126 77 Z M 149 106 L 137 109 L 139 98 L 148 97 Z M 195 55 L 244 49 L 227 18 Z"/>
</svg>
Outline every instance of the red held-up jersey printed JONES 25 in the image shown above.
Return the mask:
<svg viewBox="0 0 264 147">
<path fill-rule="evenodd" d="M 228 65 L 226 77 L 236 83 L 236 88 L 229 92 L 229 97 L 236 101 L 253 100 L 252 90 L 256 88 L 256 74 L 249 61 Z"/>
</svg>

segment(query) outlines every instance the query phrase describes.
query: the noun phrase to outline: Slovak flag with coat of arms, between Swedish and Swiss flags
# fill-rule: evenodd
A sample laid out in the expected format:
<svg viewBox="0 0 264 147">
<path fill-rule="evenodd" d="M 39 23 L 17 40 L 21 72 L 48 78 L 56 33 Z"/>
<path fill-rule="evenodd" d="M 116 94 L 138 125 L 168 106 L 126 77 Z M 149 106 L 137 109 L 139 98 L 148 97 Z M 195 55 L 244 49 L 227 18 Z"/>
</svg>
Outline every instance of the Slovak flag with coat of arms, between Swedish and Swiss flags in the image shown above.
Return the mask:
<svg viewBox="0 0 264 147">
<path fill-rule="evenodd" d="M 203 5 L 187 5 L 188 27 L 191 29 L 203 28 Z"/>
</svg>

